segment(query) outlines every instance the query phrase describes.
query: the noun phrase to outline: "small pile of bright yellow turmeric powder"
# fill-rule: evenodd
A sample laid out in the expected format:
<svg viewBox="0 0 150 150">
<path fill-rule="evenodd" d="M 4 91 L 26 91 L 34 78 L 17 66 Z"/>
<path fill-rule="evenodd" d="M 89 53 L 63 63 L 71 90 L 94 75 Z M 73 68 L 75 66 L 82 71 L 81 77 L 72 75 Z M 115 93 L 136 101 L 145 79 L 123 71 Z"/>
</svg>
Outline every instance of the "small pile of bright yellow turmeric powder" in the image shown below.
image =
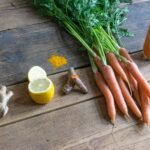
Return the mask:
<svg viewBox="0 0 150 150">
<path fill-rule="evenodd" d="M 55 67 L 59 68 L 67 64 L 67 59 L 63 56 L 52 55 L 48 61 Z"/>
</svg>

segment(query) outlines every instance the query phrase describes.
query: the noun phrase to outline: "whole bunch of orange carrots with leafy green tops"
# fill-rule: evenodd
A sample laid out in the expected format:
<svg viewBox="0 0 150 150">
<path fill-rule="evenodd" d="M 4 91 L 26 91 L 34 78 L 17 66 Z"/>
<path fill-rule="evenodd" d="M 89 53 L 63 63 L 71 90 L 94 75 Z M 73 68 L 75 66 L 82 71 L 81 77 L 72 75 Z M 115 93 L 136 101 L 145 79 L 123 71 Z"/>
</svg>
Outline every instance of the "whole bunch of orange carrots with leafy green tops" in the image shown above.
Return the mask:
<svg viewBox="0 0 150 150">
<path fill-rule="evenodd" d="M 129 108 L 149 126 L 150 86 L 114 36 L 125 20 L 124 10 L 118 6 L 120 2 L 33 0 L 41 14 L 53 17 L 85 48 L 97 86 L 105 97 L 111 122 L 115 123 L 117 105 L 124 116 L 129 116 Z"/>
</svg>

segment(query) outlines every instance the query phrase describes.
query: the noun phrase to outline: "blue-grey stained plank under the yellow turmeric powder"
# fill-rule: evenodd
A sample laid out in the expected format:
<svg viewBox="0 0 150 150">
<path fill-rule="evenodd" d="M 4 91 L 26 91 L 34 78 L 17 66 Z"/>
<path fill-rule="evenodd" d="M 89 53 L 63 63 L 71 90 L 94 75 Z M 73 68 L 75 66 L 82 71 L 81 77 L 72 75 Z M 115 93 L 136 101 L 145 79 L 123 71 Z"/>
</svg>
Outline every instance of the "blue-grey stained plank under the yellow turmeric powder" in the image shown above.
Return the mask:
<svg viewBox="0 0 150 150">
<path fill-rule="evenodd" d="M 128 25 L 130 24 L 129 27 L 131 28 L 134 26 L 135 30 L 133 31 L 141 35 L 134 37 L 132 40 L 126 40 L 127 48 L 131 51 L 141 49 L 143 36 L 146 31 L 146 22 L 150 20 L 150 16 L 148 15 L 150 2 L 140 4 L 140 20 L 134 19 L 136 15 L 134 10 L 138 11 L 136 6 L 139 8 L 139 4 L 131 6 L 132 12 L 129 17 L 131 19 L 129 19 Z M 30 14 L 31 12 L 29 16 Z M 8 17 L 6 16 L 5 19 L 7 20 Z M 28 20 L 30 19 L 29 16 L 27 16 Z M 2 24 L 4 22 L 1 21 Z M 9 24 L 7 23 L 7 25 Z M 138 26 L 139 24 L 141 26 Z M 5 27 L 5 24 L 2 26 Z M 64 41 L 69 44 L 66 44 Z M 81 67 L 88 64 L 85 53 L 77 51 L 77 44 L 65 32 L 62 31 L 60 33 L 60 30 L 52 22 L 0 32 L 0 49 L 0 82 L 7 85 L 24 81 L 26 73 L 32 65 L 41 65 L 50 74 L 64 71 L 69 66 Z M 49 55 L 54 53 L 66 56 L 68 58 L 68 66 L 54 70 L 47 62 Z"/>
</svg>

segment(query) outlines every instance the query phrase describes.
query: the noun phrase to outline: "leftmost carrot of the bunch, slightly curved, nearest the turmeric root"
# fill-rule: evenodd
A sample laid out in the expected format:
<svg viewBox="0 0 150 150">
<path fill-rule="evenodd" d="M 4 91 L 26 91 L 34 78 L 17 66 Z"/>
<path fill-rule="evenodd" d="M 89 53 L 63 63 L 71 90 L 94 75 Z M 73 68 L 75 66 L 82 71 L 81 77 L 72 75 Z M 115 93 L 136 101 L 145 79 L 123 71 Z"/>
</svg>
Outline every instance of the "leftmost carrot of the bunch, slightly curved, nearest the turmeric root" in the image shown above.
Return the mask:
<svg viewBox="0 0 150 150">
<path fill-rule="evenodd" d="M 112 124 L 115 124 L 116 108 L 113 95 L 100 72 L 94 72 L 94 77 L 99 90 L 105 97 L 108 116 L 110 117 Z"/>
</svg>

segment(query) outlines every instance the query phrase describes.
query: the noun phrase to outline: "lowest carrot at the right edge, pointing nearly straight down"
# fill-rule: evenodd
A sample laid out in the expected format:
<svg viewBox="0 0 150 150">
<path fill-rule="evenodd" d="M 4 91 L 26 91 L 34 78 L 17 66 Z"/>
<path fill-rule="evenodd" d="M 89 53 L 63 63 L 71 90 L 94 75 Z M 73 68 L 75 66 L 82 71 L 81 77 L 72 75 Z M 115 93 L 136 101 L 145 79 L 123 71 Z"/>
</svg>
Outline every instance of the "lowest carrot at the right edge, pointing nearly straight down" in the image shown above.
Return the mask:
<svg viewBox="0 0 150 150">
<path fill-rule="evenodd" d="M 150 126 L 150 99 L 141 88 L 140 88 L 140 95 L 141 95 L 143 121 L 147 126 Z"/>
</svg>

